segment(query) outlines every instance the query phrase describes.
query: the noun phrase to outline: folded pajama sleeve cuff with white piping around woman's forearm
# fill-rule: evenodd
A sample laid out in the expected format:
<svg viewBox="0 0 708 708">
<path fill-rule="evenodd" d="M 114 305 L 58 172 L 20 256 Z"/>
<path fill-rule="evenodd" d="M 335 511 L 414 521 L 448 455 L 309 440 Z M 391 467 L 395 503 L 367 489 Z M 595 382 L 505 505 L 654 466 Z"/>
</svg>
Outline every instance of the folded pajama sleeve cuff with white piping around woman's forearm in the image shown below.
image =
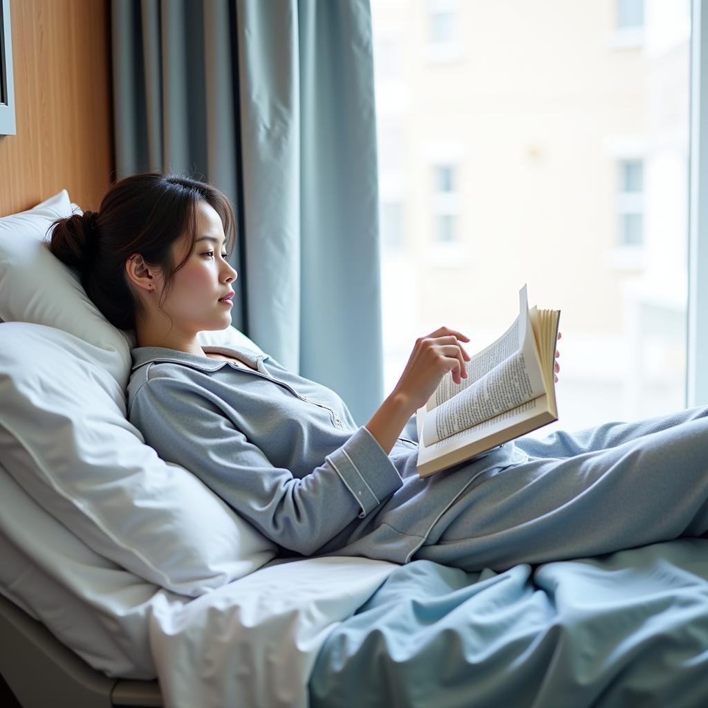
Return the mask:
<svg viewBox="0 0 708 708">
<path fill-rule="evenodd" d="M 361 507 L 359 518 L 403 486 L 396 466 L 365 426 L 326 459 Z"/>
</svg>

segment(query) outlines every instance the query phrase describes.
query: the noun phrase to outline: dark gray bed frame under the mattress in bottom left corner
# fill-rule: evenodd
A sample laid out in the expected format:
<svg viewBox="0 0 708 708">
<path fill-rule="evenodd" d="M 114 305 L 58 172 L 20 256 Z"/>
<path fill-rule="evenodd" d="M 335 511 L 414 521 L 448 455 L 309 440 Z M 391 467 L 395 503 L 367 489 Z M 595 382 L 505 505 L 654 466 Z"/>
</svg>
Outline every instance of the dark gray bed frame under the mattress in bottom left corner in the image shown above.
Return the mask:
<svg viewBox="0 0 708 708">
<path fill-rule="evenodd" d="M 108 678 L 3 595 L 0 666 L 0 705 L 4 708 L 164 705 L 157 680 Z"/>
</svg>

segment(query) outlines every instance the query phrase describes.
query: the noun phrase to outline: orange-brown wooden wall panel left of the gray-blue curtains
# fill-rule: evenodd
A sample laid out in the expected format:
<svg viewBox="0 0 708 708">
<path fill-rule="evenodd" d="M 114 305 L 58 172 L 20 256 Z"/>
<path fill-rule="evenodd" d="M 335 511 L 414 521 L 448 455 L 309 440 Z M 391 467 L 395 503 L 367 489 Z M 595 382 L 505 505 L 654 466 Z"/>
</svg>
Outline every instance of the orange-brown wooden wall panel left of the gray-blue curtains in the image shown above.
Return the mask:
<svg viewBox="0 0 708 708">
<path fill-rule="evenodd" d="M 0 136 L 0 215 L 62 188 L 97 210 L 115 178 L 110 0 L 10 0 L 17 135 Z"/>
</svg>

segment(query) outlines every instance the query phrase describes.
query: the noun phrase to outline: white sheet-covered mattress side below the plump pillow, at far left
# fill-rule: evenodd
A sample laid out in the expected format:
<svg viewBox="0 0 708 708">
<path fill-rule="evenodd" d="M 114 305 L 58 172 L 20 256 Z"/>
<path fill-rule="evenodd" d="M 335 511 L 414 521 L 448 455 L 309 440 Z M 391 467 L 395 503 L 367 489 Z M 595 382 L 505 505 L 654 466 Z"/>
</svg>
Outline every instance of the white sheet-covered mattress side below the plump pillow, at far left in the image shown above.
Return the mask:
<svg viewBox="0 0 708 708">
<path fill-rule="evenodd" d="M 0 593 L 90 666 L 108 676 L 155 678 L 148 618 L 165 590 L 86 547 L 1 464 L 0 558 Z"/>
</svg>

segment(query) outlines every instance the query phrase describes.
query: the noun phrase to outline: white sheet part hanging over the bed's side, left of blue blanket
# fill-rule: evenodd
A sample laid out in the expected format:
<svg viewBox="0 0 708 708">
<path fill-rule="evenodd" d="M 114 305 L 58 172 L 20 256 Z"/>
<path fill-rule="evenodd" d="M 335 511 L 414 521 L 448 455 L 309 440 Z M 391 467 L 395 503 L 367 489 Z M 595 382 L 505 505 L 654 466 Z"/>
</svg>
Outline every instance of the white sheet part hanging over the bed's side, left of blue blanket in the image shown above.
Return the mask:
<svg viewBox="0 0 708 708">
<path fill-rule="evenodd" d="M 397 567 L 343 556 L 270 561 L 188 602 L 161 596 L 150 645 L 166 706 L 307 707 L 325 639 Z"/>
</svg>

